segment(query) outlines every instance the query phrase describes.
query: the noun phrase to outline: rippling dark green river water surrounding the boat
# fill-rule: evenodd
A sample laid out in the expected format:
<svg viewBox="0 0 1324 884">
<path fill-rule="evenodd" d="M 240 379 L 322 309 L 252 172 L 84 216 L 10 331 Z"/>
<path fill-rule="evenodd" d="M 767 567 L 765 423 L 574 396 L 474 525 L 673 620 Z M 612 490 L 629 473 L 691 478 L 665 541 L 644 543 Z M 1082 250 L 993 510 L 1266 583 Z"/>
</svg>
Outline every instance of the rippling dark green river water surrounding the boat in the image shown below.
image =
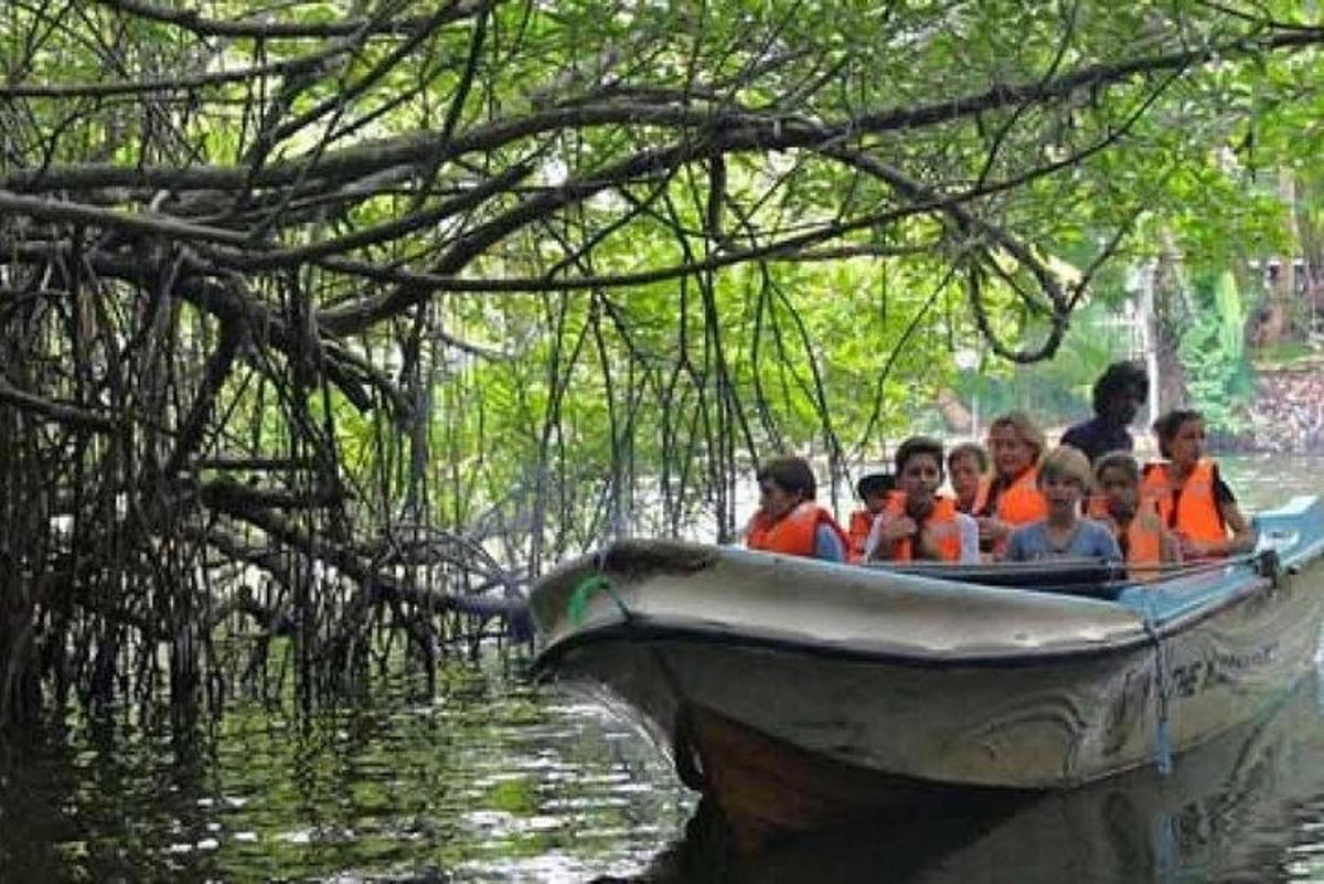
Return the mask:
<svg viewBox="0 0 1324 884">
<path fill-rule="evenodd" d="M 1250 509 L 1324 494 L 1320 459 L 1225 463 Z M 650 744 L 523 670 L 457 662 L 433 695 L 385 683 L 311 719 L 52 725 L 0 757 L 0 881 L 1324 881 L 1319 675 L 1166 778 L 735 863 Z"/>
</svg>

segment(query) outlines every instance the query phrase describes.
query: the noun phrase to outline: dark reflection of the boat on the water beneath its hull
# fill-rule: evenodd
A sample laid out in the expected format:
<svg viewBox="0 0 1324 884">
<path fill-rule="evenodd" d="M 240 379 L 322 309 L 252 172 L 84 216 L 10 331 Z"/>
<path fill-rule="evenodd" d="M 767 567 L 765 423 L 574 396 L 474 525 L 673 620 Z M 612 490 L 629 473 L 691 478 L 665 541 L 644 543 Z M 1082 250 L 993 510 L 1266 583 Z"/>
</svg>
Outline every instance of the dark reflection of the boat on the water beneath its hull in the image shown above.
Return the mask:
<svg viewBox="0 0 1324 884">
<path fill-rule="evenodd" d="M 1324 872 L 1320 680 L 1266 720 L 1182 756 L 1022 806 L 876 820 L 733 860 L 692 832 L 638 880 L 1071 881 L 1319 880 Z"/>
</svg>

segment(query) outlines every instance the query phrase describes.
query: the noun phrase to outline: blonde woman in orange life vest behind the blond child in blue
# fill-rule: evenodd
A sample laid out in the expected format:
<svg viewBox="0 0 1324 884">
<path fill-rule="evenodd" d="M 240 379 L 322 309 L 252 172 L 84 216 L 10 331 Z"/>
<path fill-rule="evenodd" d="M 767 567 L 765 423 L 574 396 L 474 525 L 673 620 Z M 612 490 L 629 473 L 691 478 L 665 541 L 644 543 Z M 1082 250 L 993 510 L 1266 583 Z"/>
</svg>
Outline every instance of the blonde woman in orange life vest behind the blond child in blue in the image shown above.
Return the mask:
<svg viewBox="0 0 1324 884">
<path fill-rule="evenodd" d="M 989 426 L 993 479 L 974 516 L 980 525 L 980 547 L 996 558 L 1006 549 L 1013 528 L 1047 515 L 1037 470 L 1043 447 L 1043 430 L 1023 412 L 1009 412 Z"/>
</svg>

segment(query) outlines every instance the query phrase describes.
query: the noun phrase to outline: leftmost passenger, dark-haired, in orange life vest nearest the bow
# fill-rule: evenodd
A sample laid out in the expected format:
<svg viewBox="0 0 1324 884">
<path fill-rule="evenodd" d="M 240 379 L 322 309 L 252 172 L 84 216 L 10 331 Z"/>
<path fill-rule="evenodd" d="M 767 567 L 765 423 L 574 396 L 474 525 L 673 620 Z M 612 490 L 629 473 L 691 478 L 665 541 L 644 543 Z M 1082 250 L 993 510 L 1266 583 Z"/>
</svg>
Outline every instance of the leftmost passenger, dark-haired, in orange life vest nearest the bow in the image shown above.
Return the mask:
<svg viewBox="0 0 1324 884">
<path fill-rule="evenodd" d="M 757 478 L 759 509 L 745 532 L 749 549 L 846 560 L 846 532 L 814 503 L 817 483 L 804 458 L 773 458 Z"/>
</svg>

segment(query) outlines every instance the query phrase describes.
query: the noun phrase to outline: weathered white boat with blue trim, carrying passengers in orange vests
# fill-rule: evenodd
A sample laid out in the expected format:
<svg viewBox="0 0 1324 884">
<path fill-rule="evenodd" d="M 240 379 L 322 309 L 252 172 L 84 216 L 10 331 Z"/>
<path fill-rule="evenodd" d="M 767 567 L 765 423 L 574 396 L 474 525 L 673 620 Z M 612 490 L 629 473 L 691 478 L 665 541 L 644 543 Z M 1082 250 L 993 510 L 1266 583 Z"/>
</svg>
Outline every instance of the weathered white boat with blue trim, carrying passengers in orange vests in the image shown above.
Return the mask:
<svg viewBox="0 0 1324 884">
<path fill-rule="evenodd" d="M 534 666 L 639 724 L 744 847 L 997 805 L 1168 770 L 1312 671 L 1324 507 L 1255 528 L 1251 554 L 1148 580 L 622 540 L 532 589 Z"/>
</svg>

